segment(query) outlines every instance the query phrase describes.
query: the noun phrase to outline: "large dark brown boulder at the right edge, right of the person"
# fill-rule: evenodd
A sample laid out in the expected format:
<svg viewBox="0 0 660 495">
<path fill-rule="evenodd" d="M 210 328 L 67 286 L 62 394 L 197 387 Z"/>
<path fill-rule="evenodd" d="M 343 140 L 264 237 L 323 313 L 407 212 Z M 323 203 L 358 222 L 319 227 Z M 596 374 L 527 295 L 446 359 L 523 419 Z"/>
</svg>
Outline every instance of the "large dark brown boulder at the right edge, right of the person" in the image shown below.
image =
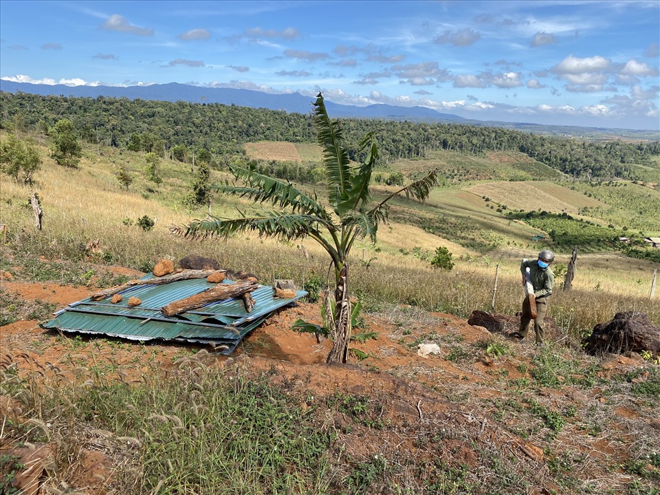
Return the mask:
<svg viewBox="0 0 660 495">
<path fill-rule="evenodd" d="M 608 323 L 593 327 L 591 336 L 584 339 L 584 350 L 590 354 L 648 351 L 660 355 L 660 328 L 646 313 L 621 311 Z"/>
</svg>

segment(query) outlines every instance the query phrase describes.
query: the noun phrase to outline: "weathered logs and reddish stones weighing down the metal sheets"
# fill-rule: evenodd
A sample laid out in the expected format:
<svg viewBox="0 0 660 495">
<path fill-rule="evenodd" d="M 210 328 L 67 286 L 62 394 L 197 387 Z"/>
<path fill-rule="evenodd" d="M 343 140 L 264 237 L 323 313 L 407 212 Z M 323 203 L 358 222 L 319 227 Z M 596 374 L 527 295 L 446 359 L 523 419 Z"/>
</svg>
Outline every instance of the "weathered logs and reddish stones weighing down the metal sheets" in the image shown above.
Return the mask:
<svg viewBox="0 0 660 495">
<path fill-rule="evenodd" d="M 119 303 L 122 300 L 122 296 L 118 294 L 129 287 L 135 287 L 137 285 L 163 285 L 168 283 L 173 283 L 177 281 L 190 280 L 192 278 L 206 278 L 206 281 L 210 283 L 215 283 L 213 287 L 206 289 L 203 292 L 198 294 L 193 294 L 187 298 L 180 300 L 175 300 L 168 305 L 163 306 L 160 311 L 164 316 L 174 316 L 177 314 L 184 313 L 184 311 L 190 311 L 191 309 L 197 309 L 208 303 L 214 303 L 217 301 L 225 300 L 228 298 L 241 298 L 243 299 L 243 305 L 245 305 L 245 311 L 252 311 L 254 307 L 254 298 L 250 295 L 250 292 L 253 292 L 255 289 L 261 287 L 257 282 L 255 277 L 243 278 L 237 280 L 233 283 L 221 283 L 225 280 L 227 270 L 187 270 L 179 269 L 174 270 L 174 265 L 172 261 L 162 260 L 157 265 L 155 265 L 153 278 L 132 280 L 126 282 L 122 285 L 117 285 L 109 289 L 102 290 L 93 294 L 91 300 L 98 301 L 105 299 L 109 296 L 111 298 L 111 303 Z M 131 298 L 129 300 L 130 306 L 140 305 L 140 300 L 137 298 Z"/>
</svg>

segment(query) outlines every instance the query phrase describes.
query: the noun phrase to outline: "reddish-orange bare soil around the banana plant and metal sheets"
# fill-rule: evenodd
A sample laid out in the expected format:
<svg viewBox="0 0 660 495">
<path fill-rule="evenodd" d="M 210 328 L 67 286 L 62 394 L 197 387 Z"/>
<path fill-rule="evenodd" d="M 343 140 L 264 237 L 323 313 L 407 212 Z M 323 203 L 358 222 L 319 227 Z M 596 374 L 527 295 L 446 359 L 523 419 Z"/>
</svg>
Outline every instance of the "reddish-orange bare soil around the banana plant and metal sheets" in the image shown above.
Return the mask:
<svg viewBox="0 0 660 495">
<path fill-rule="evenodd" d="M 93 292 L 88 287 L 50 283 L 11 282 L 3 283 L 3 288 L 21 298 L 48 300 L 58 308 Z M 452 445 L 447 450 L 448 459 L 476 469 L 476 445 L 508 452 L 516 469 L 536 473 L 528 480 L 529 494 L 582 493 L 580 483 L 573 487 L 555 484 L 556 463 L 575 456 L 579 456 L 584 472 L 572 472 L 571 476 L 588 482 L 596 492 L 622 493 L 631 478 L 619 466 L 630 460 L 631 445 L 642 442 L 649 452 L 660 449 L 659 437 L 652 435 L 658 428 L 654 426 L 657 405 L 650 407 L 630 395 L 607 391 L 605 384 L 571 385 L 568 375 L 557 377 L 556 386 L 533 385 L 533 362 L 543 356 L 580 360 L 574 373 L 586 373 L 590 366 L 597 366 L 602 377 L 612 378 L 643 366 L 637 355 L 600 361 L 564 347 L 563 336 L 556 333 L 555 342 L 549 342 L 551 351 L 542 354 L 544 351 L 533 347 L 532 342 L 509 340 L 504 333 L 489 333 L 449 314 L 428 314 L 401 306 L 365 314 L 364 329 L 353 331 L 373 332 L 376 337 L 363 344 L 355 342 L 354 347 L 366 353 L 366 359 L 353 358 L 351 364 L 329 366 L 325 358 L 331 343 L 292 331 L 298 318 L 319 322 L 318 305 L 301 303 L 278 311 L 250 333 L 229 358 L 189 345 L 59 336 L 43 331 L 39 322 L 19 321 L 1 327 L 0 365 L 4 369 L 14 366 L 23 374 L 38 372 L 69 380 L 80 366 L 93 365 L 107 369 L 109 380 L 115 377 L 137 383 L 154 363 L 163 371 L 172 370 L 177 360 L 192 353 L 210 367 L 240 362 L 248 373 L 269 371 L 274 384 L 305 393 L 368 395 L 380 401 L 383 417 L 393 428 L 364 427 L 340 437 L 346 452 L 355 459 L 369 459 L 383 452 L 406 452 L 426 459 L 437 454 L 420 448 L 419 439 L 446 430 L 455 434 L 445 440 L 445 448 Z M 422 357 L 417 351 L 423 343 L 437 344 L 439 353 Z M 502 352 L 488 352 L 491 344 L 497 344 Z M 644 376 L 639 380 L 643 382 Z M 3 417 L 14 417 L 19 406 L 8 397 L 1 398 Z M 535 408 L 540 412 L 533 412 Z M 559 415 L 563 422 L 554 432 L 548 426 L 548 418 L 556 417 L 553 415 Z M 107 439 L 109 432 L 84 433 L 89 441 L 79 453 L 78 478 L 69 485 L 84 487 L 89 494 L 107 494 L 114 470 L 122 459 L 133 455 L 130 445 L 118 450 L 116 443 Z M 49 445 L 42 451 L 45 457 L 52 448 Z M 4 439 L 0 452 L 11 452 L 21 459 L 36 455 L 34 449 L 21 450 L 19 445 L 5 444 Z M 36 482 L 30 483 L 35 486 Z"/>
</svg>

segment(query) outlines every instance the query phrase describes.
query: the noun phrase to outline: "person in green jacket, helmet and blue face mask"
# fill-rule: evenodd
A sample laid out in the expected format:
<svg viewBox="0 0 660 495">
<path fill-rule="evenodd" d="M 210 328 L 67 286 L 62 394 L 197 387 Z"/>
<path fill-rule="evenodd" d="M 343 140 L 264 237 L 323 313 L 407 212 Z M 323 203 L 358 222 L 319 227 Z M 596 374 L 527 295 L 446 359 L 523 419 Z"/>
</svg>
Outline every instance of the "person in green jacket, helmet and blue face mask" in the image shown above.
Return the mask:
<svg viewBox="0 0 660 495">
<path fill-rule="evenodd" d="M 536 344 L 543 345 L 545 336 L 544 318 L 548 311 L 548 300 L 552 295 L 552 287 L 555 283 L 555 274 L 553 274 L 550 265 L 555 259 L 555 254 L 551 250 L 542 250 L 538 254 L 538 259 L 522 259 L 520 263 L 520 272 L 522 273 L 522 283 L 525 283 L 525 272 L 529 268 L 531 285 L 534 289 L 534 298 L 536 299 L 536 318 L 534 318 L 534 333 L 536 333 Z M 524 339 L 529 333 L 531 323 L 531 311 L 529 308 L 529 299 L 522 301 L 522 315 L 520 316 L 520 331 L 511 335 Z"/>
</svg>

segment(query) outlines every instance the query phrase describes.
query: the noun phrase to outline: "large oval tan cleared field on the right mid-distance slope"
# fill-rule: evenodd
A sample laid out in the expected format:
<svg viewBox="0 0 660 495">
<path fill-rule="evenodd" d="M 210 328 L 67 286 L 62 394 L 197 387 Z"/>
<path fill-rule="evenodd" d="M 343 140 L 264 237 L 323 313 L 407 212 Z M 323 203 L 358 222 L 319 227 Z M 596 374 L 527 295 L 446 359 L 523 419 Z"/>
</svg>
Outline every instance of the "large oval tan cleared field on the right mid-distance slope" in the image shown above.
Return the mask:
<svg viewBox="0 0 660 495">
<path fill-rule="evenodd" d="M 466 190 L 516 210 L 532 211 L 541 208 L 548 212 L 577 214 L 577 209 L 584 206 L 606 206 L 580 192 L 542 181 L 489 182 Z"/>
</svg>

